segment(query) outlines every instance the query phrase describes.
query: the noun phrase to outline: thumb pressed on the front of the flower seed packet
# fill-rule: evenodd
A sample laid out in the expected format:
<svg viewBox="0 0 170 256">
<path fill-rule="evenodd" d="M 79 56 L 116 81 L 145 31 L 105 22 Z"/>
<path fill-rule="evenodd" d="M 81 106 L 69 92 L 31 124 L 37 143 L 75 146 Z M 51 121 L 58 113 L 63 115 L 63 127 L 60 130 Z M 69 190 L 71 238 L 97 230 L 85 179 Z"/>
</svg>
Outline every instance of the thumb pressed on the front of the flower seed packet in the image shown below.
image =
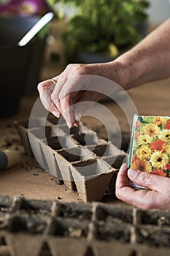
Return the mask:
<svg viewBox="0 0 170 256">
<path fill-rule="evenodd" d="M 166 187 L 166 182 L 169 184 L 169 178 L 142 172 L 140 170 L 129 169 L 128 178 L 142 187 L 147 187 L 148 189 L 155 191 L 163 191 Z"/>
</svg>

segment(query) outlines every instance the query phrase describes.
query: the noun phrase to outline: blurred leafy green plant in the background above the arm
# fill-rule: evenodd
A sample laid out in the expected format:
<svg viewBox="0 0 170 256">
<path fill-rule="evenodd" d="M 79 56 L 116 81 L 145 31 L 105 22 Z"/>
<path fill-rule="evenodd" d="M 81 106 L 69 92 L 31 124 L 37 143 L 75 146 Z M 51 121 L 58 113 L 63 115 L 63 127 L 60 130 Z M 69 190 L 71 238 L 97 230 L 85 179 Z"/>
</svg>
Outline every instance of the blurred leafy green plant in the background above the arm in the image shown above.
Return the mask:
<svg viewBox="0 0 170 256">
<path fill-rule="evenodd" d="M 58 2 L 57 0 L 48 0 Z M 139 42 L 136 23 L 147 20 L 147 0 L 62 0 L 72 3 L 77 12 L 69 19 L 63 42 L 66 58 L 74 61 L 77 53 L 102 52 L 115 58 Z"/>
</svg>

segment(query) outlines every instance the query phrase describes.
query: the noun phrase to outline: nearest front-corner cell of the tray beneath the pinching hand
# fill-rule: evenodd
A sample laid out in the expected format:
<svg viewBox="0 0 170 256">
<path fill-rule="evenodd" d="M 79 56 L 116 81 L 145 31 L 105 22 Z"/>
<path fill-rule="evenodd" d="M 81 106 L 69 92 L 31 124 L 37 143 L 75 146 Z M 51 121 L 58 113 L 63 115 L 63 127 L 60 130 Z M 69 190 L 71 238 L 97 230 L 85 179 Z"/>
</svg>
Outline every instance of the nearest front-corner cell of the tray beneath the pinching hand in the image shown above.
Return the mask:
<svg viewBox="0 0 170 256">
<path fill-rule="evenodd" d="M 86 202 L 101 200 L 115 169 L 102 159 L 89 159 L 72 166 L 72 176 L 80 198 Z"/>
</svg>

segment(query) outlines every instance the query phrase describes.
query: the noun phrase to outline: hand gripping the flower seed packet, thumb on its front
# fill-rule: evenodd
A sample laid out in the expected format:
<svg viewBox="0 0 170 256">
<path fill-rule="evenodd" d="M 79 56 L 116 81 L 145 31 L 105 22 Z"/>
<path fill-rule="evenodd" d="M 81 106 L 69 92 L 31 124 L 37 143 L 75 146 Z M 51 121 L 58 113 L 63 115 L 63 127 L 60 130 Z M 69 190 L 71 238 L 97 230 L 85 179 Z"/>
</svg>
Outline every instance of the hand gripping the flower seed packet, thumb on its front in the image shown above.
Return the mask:
<svg viewBox="0 0 170 256">
<path fill-rule="evenodd" d="M 129 187 L 129 179 L 151 190 L 135 190 Z M 170 208 L 170 178 L 120 167 L 116 181 L 116 195 L 120 200 L 143 209 Z"/>
</svg>

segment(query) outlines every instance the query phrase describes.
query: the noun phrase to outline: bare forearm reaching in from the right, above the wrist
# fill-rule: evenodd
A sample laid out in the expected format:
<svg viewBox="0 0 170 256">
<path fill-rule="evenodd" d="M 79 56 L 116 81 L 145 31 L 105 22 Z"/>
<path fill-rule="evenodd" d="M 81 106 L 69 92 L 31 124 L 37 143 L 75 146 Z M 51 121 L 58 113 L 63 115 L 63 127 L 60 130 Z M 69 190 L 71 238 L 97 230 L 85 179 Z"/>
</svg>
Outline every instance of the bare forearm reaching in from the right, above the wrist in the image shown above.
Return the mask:
<svg viewBox="0 0 170 256">
<path fill-rule="evenodd" d="M 170 19 L 152 31 L 138 45 L 112 61 L 120 69 L 124 89 L 170 77 Z M 115 73 L 115 71 L 114 71 Z"/>
</svg>

